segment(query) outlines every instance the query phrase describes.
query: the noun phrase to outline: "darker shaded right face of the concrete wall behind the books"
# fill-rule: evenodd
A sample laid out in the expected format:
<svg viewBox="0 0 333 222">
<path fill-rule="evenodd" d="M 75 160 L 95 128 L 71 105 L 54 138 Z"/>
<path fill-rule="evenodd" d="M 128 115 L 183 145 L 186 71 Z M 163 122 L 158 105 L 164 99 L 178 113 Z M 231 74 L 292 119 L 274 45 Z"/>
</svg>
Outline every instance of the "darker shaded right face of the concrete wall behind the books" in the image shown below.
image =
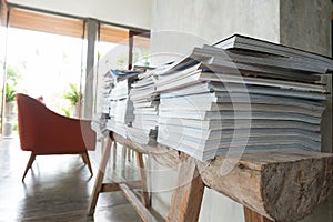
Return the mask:
<svg viewBox="0 0 333 222">
<path fill-rule="evenodd" d="M 280 42 L 290 47 L 331 56 L 330 0 L 281 0 Z M 324 82 L 332 92 L 332 78 Z M 322 150 L 332 152 L 332 95 L 326 102 L 322 121 Z"/>
</svg>

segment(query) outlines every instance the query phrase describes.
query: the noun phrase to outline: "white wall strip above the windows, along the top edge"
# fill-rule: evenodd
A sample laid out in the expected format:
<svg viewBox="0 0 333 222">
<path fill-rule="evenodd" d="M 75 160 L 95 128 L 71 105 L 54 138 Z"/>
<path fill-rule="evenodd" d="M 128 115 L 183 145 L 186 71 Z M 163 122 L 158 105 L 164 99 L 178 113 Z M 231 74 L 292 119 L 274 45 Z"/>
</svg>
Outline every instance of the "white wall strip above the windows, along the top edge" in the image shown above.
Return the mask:
<svg viewBox="0 0 333 222">
<path fill-rule="evenodd" d="M 9 3 L 150 29 L 151 0 L 8 0 Z"/>
</svg>

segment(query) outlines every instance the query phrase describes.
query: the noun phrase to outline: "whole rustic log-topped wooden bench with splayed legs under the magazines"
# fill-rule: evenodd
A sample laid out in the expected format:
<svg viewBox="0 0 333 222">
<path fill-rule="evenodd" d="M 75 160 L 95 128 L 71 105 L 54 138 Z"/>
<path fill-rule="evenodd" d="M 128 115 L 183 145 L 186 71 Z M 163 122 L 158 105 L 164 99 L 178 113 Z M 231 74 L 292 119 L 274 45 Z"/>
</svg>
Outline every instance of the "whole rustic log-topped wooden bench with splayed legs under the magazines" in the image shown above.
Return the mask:
<svg viewBox="0 0 333 222">
<path fill-rule="evenodd" d="M 135 151 L 140 181 L 103 183 L 111 144 Z M 99 193 L 123 191 L 143 219 L 155 221 L 150 211 L 142 154 L 151 154 L 160 164 L 178 165 L 178 186 L 173 191 L 167 221 L 198 221 L 204 186 L 233 199 L 244 206 L 246 222 L 297 221 L 310 214 L 333 189 L 333 154 L 300 150 L 244 153 L 235 167 L 221 175 L 221 167 L 231 158 L 223 155 L 201 162 L 165 145 L 140 145 L 111 133 L 104 148 L 89 204 L 92 215 Z M 142 189 L 139 201 L 131 189 Z"/>
</svg>

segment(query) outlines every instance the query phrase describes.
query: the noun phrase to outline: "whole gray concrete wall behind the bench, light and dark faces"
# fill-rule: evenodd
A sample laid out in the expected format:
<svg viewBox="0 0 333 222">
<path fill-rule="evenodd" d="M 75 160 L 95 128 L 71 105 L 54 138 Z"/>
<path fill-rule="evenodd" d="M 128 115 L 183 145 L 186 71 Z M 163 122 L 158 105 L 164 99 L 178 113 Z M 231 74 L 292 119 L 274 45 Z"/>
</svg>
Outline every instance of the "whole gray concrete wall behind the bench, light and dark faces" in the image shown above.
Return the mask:
<svg viewBox="0 0 333 222">
<path fill-rule="evenodd" d="M 194 46 L 213 43 L 233 33 L 329 56 L 330 16 L 330 0 L 153 0 L 152 62 L 161 64 L 189 53 Z M 332 151 L 332 102 L 327 104 L 323 150 Z M 154 171 L 161 168 L 154 161 L 151 161 L 151 167 Z M 175 172 L 171 172 L 168 176 L 152 180 L 151 185 L 157 190 L 160 184 L 172 189 L 174 181 Z M 171 196 L 167 190 L 160 190 L 152 200 L 153 206 L 164 216 Z M 205 190 L 200 221 L 241 222 L 243 219 L 241 205 L 220 193 Z M 332 221 L 332 201 L 323 203 L 304 221 Z"/>
</svg>

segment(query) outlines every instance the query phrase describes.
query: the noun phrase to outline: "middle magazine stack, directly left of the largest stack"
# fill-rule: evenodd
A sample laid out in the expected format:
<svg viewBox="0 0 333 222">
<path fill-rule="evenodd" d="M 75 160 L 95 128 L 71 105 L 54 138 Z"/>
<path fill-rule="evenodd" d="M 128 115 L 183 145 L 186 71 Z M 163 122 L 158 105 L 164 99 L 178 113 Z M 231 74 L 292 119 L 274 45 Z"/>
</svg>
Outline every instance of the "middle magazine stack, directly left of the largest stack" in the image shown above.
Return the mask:
<svg viewBox="0 0 333 222">
<path fill-rule="evenodd" d="M 152 144 L 158 134 L 159 95 L 154 91 L 153 71 L 138 75 L 132 84 L 130 100 L 134 107 L 134 120 L 128 128 L 129 138 L 140 144 Z"/>
</svg>

